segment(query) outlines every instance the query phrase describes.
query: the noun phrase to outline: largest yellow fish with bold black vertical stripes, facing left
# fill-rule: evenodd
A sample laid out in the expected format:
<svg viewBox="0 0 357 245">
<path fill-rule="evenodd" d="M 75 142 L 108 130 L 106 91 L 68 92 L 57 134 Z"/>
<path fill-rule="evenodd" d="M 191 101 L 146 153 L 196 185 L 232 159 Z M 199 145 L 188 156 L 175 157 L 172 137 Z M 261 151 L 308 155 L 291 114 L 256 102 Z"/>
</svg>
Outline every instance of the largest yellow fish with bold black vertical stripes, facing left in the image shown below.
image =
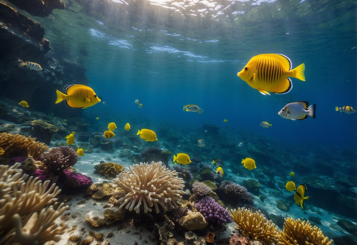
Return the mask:
<svg viewBox="0 0 357 245">
<path fill-rule="evenodd" d="M 291 60 L 282 54 L 256 55 L 238 72 L 239 76 L 253 89 L 263 95 L 286 94 L 292 89 L 292 81 L 288 77 L 295 77 L 305 81 L 305 64 L 292 69 Z"/>
</svg>

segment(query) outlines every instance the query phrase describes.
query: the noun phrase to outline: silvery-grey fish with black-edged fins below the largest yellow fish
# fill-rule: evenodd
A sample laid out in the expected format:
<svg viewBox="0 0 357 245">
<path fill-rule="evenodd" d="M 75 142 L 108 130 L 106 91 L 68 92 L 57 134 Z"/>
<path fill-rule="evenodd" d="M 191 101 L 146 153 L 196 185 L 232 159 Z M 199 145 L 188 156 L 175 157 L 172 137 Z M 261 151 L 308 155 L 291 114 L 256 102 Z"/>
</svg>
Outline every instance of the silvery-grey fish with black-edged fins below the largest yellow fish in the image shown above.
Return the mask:
<svg viewBox="0 0 357 245">
<path fill-rule="evenodd" d="M 307 101 L 297 101 L 286 104 L 278 115 L 290 120 L 304 120 L 307 115 L 312 118 L 316 117 L 316 104 L 309 106 Z"/>
</svg>

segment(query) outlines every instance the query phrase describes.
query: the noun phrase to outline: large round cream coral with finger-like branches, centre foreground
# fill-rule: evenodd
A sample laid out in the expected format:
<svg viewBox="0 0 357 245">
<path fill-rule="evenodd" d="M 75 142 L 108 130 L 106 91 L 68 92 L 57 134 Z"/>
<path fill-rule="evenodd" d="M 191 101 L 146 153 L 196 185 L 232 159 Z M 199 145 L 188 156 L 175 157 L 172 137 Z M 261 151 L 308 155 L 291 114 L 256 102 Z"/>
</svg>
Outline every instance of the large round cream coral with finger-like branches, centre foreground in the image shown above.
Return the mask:
<svg viewBox="0 0 357 245">
<path fill-rule="evenodd" d="M 182 198 L 183 187 L 182 178 L 179 178 L 176 171 L 170 171 L 162 162 L 134 164 L 129 166 L 129 171 L 120 173 L 113 179 L 114 188 L 120 187 L 122 190 L 114 192 L 113 196 L 119 196 L 117 203 L 121 203 L 119 208 L 129 209 L 129 211 L 140 212 L 140 206 L 144 205 L 144 212 L 151 212 L 155 206 L 156 213 L 159 213 L 159 206 L 165 211 L 177 207 L 176 200 Z M 149 204 L 149 206 L 147 205 Z"/>
</svg>

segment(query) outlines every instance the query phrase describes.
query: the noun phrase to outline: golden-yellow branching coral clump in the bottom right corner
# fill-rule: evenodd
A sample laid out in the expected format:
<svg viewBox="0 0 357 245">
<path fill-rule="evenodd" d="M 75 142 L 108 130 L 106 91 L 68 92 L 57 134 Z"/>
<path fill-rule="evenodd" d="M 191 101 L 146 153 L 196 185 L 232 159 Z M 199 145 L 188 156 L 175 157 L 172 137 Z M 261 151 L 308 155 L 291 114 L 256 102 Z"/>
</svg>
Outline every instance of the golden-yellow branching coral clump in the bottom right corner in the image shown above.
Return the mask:
<svg viewBox="0 0 357 245">
<path fill-rule="evenodd" d="M 331 245 L 333 240 L 325 237 L 317 226 L 313 226 L 309 221 L 300 219 L 285 218 L 283 231 L 276 234 L 278 244 L 281 245 Z"/>
</svg>

